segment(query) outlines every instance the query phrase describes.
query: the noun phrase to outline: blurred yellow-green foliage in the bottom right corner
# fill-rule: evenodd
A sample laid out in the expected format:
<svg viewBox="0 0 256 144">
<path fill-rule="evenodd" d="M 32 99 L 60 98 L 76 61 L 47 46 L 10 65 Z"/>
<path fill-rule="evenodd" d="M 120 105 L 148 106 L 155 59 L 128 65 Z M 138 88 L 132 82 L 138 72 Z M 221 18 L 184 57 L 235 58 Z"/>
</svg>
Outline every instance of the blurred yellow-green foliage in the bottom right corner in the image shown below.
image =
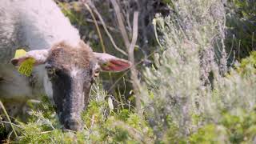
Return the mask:
<svg viewBox="0 0 256 144">
<path fill-rule="evenodd" d="M 218 124 L 207 124 L 190 136 L 191 143 L 254 143 L 255 111 L 238 109 L 236 114 L 223 113 Z"/>
</svg>

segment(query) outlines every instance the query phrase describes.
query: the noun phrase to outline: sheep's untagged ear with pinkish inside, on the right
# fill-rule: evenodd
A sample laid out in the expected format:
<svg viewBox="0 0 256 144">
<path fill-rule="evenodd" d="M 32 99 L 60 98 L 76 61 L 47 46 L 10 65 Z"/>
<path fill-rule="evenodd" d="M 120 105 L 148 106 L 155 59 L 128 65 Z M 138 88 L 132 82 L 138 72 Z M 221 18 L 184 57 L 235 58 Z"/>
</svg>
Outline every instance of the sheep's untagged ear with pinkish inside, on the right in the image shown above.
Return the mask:
<svg viewBox="0 0 256 144">
<path fill-rule="evenodd" d="M 125 59 L 114 57 L 110 54 L 94 52 L 94 56 L 97 58 L 98 65 L 103 71 L 119 72 L 126 70 L 131 66 L 131 62 Z"/>
</svg>

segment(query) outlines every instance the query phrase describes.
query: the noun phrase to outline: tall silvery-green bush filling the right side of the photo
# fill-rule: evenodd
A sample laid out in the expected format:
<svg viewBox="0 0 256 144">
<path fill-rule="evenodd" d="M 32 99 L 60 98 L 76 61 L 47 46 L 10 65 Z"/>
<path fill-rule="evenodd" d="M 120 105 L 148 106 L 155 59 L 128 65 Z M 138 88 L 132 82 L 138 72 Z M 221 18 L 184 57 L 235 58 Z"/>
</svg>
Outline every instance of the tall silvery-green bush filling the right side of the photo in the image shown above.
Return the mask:
<svg viewBox="0 0 256 144">
<path fill-rule="evenodd" d="M 254 113 L 254 52 L 239 68 L 228 68 L 220 1 L 180 0 L 171 6 L 174 15 L 154 20 L 162 51 L 144 72 L 149 91 L 141 97 L 154 134 L 159 142 L 244 141 L 241 130 L 250 126 L 242 119 L 250 114 L 238 112 Z M 236 122 L 242 126 L 232 128 Z"/>
</svg>

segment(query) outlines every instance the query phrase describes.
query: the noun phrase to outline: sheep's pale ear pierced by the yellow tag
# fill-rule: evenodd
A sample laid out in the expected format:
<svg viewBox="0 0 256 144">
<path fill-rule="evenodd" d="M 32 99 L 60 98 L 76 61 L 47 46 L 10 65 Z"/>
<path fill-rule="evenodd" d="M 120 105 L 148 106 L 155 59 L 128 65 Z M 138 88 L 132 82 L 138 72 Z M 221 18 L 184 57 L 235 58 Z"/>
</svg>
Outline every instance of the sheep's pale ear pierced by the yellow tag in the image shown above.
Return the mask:
<svg viewBox="0 0 256 144">
<path fill-rule="evenodd" d="M 27 52 L 24 56 L 19 58 L 13 58 L 10 62 L 14 66 L 19 66 L 22 62 L 24 62 L 28 58 L 34 58 L 34 65 L 41 65 L 46 62 L 46 59 L 49 56 L 49 50 L 31 50 Z"/>
</svg>

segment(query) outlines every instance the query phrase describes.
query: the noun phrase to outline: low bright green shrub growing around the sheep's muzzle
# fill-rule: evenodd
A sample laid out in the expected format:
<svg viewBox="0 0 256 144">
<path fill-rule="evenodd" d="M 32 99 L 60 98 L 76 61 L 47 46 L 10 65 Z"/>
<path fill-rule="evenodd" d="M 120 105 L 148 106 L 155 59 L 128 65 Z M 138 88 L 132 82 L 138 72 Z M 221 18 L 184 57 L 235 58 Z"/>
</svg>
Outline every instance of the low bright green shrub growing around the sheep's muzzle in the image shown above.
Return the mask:
<svg viewBox="0 0 256 144">
<path fill-rule="evenodd" d="M 29 122 L 18 122 L 18 142 L 152 142 L 154 135 L 144 118 L 130 110 L 110 109 L 111 104 L 105 101 L 107 94 L 99 83 L 93 86 L 90 104 L 82 114 L 84 130 L 62 130 L 51 103 L 42 98 L 42 102 L 34 105 L 30 111 Z"/>
</svg>

